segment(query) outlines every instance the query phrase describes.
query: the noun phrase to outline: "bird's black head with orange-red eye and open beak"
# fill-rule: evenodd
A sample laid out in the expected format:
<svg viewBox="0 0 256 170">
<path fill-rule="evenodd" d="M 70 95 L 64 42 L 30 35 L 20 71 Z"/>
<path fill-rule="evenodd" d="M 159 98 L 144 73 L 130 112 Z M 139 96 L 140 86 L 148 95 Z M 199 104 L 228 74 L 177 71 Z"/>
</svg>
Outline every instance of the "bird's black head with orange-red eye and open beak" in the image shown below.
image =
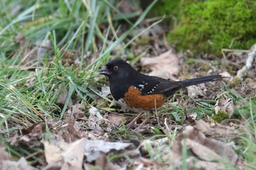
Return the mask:
<svg viewBox="0 0 256 170">
<path fill-rule="evenodd" d="M 131 65 L 122 59 L 110 60 L 99 72 L 99 74 L 105 75 L 110 81 L 114 79 L 124 79 L 137 73 Z"/>
</svg>

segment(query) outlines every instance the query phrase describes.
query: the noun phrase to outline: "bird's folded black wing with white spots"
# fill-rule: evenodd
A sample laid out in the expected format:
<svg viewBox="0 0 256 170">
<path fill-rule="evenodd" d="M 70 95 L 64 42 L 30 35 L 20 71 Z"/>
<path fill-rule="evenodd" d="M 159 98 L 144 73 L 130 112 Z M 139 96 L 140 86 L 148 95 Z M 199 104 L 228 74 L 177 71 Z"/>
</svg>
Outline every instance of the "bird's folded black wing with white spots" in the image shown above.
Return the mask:
<svg viewBox="0 0 256 170">
<path fill-rule="evenodd" d="M 140 74 L 136 80 L 136 83 L 133 83 L 133 86 L 142 92 L 142 95 L 147 94 L 159 94 L 166 91 L 170 91 L 175 88 L 181 88 L 180 83 L 171 82 L 167 79 L 160 77 L 147 76 L 145 74 Z"/>
</svg>

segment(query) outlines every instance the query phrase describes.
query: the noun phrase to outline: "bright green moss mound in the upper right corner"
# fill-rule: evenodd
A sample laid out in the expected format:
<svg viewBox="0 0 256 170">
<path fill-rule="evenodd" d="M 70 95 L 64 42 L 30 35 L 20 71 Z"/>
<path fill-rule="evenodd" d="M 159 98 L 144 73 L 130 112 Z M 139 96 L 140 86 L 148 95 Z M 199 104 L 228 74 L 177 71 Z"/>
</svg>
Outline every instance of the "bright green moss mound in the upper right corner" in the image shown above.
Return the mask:
<svg viewBox="0 0 256 170">
<path fill-rule="evenodd" d="M 168 39 L 177 49 L 221 56 L 221 48 L 249 49 L 256 41 L 256 1 L 184 0 L 179 25 Z"/>
</svg>

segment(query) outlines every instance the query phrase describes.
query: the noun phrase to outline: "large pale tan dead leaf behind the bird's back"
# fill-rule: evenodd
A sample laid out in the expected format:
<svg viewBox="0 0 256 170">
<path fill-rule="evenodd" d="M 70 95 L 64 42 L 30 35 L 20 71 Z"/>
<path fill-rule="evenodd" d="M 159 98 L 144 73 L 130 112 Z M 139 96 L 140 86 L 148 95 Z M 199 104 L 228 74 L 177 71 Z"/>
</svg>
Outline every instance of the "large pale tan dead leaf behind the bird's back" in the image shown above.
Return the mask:
<svg viewBox="0 0 256 170">
<path fill-rule="evenodd" d="M 177 55 L 173 50 L 169 50 L 159 57 L 144 57 L 140 59 L 143 67 L 149 66 L 151 71 L 164 70 L 171 75 L 178 75 L 182 71 L 182 66 L 180 65 Z"/>
</svg>

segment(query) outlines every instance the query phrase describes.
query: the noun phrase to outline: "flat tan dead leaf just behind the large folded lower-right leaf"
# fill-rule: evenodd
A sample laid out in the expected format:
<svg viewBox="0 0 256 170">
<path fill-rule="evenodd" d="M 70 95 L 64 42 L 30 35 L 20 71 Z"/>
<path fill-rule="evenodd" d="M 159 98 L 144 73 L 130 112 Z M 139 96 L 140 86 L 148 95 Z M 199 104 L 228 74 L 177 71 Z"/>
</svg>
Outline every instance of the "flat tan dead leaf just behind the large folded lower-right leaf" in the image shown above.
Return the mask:
<svg viewBox="0 0 256 170">
<path fill-rule="evenodd" d="M 194 113 L 187 114 L 188 124 L 192 125 L 207 136 L 225 137 L 230 139 L 241 133 L 239 130 L 219 124 L 206 114 L 204 114 L 203 118 L 200 120 L 195 120 L 192 115 L 194 115 Z"/>
</svg>

